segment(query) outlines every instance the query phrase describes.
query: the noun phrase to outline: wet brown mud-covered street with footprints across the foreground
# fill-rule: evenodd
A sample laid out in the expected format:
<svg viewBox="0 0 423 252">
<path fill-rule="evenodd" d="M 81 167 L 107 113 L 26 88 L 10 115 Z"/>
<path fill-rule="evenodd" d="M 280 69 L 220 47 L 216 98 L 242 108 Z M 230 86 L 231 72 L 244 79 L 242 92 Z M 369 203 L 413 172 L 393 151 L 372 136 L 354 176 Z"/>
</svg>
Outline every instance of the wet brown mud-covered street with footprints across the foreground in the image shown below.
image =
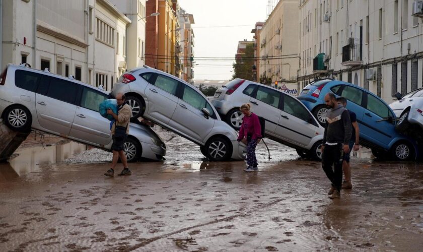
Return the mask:
<svg viewBox="0 0 423 252">
<path fill-rule="evenodd" d="M 351 158 L 353 190 L 333 201 L 321 164 L 291 148 L 265 140 L 271 159 L 260 143 L 259 172 L 245 173 L 244 161 L 208 162 L 196 145 L 155 130 L 167 160 L 130 164 L 132 175 L 124 177 L 103 176 L 111 154 L 101 150 L 51 158 L 48 147 L 19 149 L 24 155 L 0 164 L 0 250 L 423 246 L 421 164 L 379 162 L 360 152 Z"/>
</svg>

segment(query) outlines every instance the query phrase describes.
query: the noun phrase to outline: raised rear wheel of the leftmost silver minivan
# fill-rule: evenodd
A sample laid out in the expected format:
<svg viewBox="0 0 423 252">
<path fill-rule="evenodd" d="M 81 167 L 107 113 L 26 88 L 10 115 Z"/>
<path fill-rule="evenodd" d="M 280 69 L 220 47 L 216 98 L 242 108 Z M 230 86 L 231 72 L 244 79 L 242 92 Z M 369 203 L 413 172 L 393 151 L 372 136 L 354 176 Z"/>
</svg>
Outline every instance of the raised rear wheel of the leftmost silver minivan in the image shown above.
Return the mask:
<svg viewBox="0 0 423 252">
<path fill-rule="evenodd" d="M 24 106 L 14 105 L 7 108 L 3 114 L 3 119 L 11 130 L 19 132 L 28 132 L 31 130 L 31 113 Z"/>
</svg>

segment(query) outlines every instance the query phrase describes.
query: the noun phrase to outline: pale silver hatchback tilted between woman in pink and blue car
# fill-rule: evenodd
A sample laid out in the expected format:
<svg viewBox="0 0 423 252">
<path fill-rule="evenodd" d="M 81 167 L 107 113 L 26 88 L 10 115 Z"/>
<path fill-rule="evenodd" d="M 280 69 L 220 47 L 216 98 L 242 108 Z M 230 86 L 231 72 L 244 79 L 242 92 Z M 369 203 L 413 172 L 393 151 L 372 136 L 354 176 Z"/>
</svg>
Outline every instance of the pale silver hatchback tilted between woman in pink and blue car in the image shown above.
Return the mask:
<svg viewBox="0 0 423 252">
<path fill-rule="evenodd" d="M 218 112 L 237 130 L 242 123 L 243 103 L 250 103 L 251 111 L 264 117 L 266 137 L 295 148 L 300 156 L 321 159 L 324 129 L 297 98 L 243 79 L 230 81 L 212 98 Z"/>
</svg>

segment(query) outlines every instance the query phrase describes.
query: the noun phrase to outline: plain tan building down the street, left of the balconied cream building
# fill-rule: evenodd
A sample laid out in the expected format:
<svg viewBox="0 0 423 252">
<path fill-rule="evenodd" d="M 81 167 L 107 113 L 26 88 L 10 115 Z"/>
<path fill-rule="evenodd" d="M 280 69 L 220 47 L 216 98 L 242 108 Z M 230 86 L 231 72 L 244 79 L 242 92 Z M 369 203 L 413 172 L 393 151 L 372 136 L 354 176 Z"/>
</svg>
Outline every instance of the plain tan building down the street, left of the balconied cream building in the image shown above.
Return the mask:
<svg viewBox="0 0 423 252">
<path fill-rule="evenodd" d="M 277 88 L 298 93 L 299 0 L 280 0 L 261 28 L 259 35 L 258 80 L 271 79 Z"/>
</svg>

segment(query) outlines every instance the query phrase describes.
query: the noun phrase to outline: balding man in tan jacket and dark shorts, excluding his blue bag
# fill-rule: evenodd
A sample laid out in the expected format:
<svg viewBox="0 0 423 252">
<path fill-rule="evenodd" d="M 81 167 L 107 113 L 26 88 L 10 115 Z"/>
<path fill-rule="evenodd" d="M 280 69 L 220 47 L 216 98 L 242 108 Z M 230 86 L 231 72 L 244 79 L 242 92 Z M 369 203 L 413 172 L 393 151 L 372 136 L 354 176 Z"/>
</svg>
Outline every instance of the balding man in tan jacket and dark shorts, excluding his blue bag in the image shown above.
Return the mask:
<svg viewBox="0 0 423 252">
<path fill-rule="evenodd" d="M 115 121 L 112 124 L 111 134 L 113 139 L 112 152 L 113 160 L 112 167 L 107 170 L 104 175 L 113 177 L 114 168 L 116 167 L 117 160 L 120 157 L 120 160 L 123 164 L 123 170 L 118 174 L 122 175 L 131 175 L 131 171 L 128 168 L 128 163 L 126 162 L 126 155 L 123 147 L 123 143 L 126 140 L 126 137 L 129 133 L 129 119 L 131 117 L 131 107 L 128 104 L 125 104 L 125 95 L 118 93 L 116 95 L 117 102 L 117 114 L 112 110 L 112 108 L 107 109 L 107 115 L 111 116 Z M 110 118 L 109 118 L 110 119 Z"/>
</svg>

